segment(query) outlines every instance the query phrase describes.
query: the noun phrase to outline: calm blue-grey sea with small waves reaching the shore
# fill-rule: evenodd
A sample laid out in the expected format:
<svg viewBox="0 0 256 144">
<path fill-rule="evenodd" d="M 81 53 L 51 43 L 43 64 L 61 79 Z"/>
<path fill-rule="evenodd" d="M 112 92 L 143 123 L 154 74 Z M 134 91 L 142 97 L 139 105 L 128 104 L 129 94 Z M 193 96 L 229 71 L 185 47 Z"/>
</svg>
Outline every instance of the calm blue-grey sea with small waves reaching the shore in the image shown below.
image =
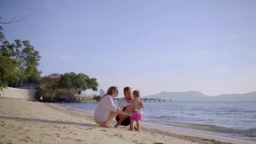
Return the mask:
<svg viewBox="0 0 256 144">
<path fill-rule="evenodd" d="M 144 104 L 142 124 L 256 144 L 256 101 L 151 101 Z M 97 107 L 97 103 L 56 105 L 91 114 Z"/>
</svg>

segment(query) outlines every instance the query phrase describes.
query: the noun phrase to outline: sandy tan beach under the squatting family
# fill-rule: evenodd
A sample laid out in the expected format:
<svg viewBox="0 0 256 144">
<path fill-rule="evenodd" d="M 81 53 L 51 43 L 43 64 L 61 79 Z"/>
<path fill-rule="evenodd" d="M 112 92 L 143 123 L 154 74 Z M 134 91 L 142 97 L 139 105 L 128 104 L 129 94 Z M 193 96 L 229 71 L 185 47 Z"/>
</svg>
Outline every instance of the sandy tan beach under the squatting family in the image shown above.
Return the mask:
<svg viewBox="0 0 256 144">
<path fill-rule="evenodd" d="M 112 120 L 112 125 L 115 120 Z M 142 125 L 102 128 L 93 115 L 53 104 L 0 98 L 0 144 L 241 144 Z"/>
</svg>

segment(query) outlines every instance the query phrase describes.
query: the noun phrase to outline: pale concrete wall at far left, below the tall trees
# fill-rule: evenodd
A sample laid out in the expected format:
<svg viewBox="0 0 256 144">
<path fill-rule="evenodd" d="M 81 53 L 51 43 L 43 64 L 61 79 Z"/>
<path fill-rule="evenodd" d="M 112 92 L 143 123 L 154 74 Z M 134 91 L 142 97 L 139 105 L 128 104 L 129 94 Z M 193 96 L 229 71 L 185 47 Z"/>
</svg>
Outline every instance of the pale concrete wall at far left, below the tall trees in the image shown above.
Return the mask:
<svg viewBox="0 0 256 144">
<path fill-rule="evenodd" d="M 0 91 L 1 97 L 16 98 L 16 99 L 35 99 L 37 90 L 24 90 L 19 88 L 3 88 Z"/>
</svg>

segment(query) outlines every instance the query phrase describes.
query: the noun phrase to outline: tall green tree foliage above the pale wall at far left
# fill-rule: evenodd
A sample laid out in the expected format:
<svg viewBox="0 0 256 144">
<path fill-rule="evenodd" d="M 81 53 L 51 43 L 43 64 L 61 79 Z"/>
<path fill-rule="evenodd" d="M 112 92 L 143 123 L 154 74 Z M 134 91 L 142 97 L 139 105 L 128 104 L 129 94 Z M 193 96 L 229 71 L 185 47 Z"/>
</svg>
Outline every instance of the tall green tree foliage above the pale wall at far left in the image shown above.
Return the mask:
<svg viewBox="0 0 256 144">
<path fill-rule="evenodd" d="M 12 76 L 5 79 L 5 85 L 11 87 L 18 86 L 18 83 L 22 85 L 24 81 L 39 82 L 41 71 L 37 69 L 40 61 L 40 54 L 35 50 L 34 46 L 30 45 L 28 40 L 14 40 L 13 44 L 8 41 L 4 41 L 0 45 L 0 56 L 3 59 L 1 65 L 9 64 L 11 61 L 16 61 L 15 67 L 8 70 Z M 3 77 L 6 77 L 6 73 L 2 73 Z M 3 86 L 5 86 L 3 85 Z M 1 88 L 3 86 L 0 86 Z"/>
</svg>

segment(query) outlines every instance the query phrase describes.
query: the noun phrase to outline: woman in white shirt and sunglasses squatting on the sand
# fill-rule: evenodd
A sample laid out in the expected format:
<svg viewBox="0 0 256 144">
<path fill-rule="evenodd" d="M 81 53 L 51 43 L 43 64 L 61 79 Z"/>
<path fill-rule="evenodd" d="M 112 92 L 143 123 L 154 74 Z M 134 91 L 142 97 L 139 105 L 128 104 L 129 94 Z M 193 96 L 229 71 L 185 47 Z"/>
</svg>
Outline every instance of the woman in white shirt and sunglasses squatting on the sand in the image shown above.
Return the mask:
<svg viewBox="0 0 256 144">
<path fill-rule="evenodd" d="M 112 86 L 107 90 L 107 93 L 102 96 L 94 112 L 94 120 L 102 127 L 112 128 L 109 121 L 112 120 L 117 114 L 134 116 L 132 112 L 123 112 L 114 104 L 113 98 L 117 97 L 117 87 Z"/>
</svg>

